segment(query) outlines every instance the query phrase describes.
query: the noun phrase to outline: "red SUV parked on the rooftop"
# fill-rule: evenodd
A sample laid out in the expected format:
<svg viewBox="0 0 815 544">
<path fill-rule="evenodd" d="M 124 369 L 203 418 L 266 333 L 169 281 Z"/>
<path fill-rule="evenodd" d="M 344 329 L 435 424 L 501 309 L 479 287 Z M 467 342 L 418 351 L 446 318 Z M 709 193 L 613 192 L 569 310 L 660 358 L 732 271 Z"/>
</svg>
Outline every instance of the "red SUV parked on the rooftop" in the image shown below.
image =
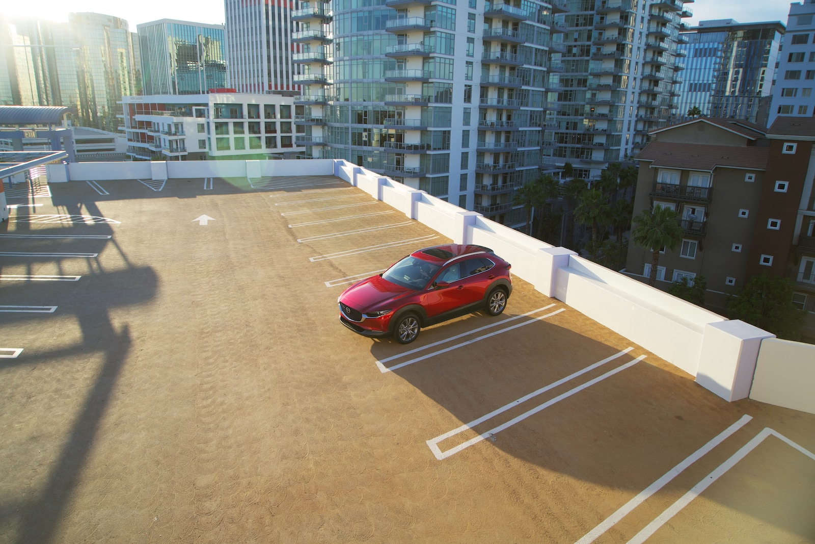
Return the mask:
<svg viewBox="0 0 815 544">
<path fill-rule="evenodd" d="M 511 264 L 481 245 L 436 245 L 342 292 L 340 322 L 369 337 L 411 343 L 421 327 L 483 309 L 504 312 Z"/>
</svg>

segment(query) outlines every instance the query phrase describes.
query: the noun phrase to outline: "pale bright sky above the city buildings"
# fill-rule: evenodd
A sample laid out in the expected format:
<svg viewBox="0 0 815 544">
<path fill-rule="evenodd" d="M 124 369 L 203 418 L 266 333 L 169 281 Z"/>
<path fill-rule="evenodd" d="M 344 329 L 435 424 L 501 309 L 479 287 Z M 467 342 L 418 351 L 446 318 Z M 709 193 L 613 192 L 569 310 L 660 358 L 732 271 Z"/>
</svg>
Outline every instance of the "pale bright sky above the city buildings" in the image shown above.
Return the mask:
<svg viewBox="0 0 815 544">
<path fill-rule="evenodd" d="M 68 12 L 93 11 L 115 15 L 127 20 L 130 29 L 136 24 L 158 19 L 188 20 L 196 23 L 223 23 L 223 0 L 137 0 L 136 2 L 110 2 L 110 0 L 4 0 L 5 15 L 32 15 L 41 19 L 67 21 Z M 9 5 L 11 4 L 11 5 Z M 700 20 L 735 19 L 739 23 L 780 20 L 786 24 L 790 3 L 784 0 L 696 0 L 688 4 L 694 11 L 685 22 L 695 26 Z M 161 15 L 156 15 L 161 14 Z"/>
</svg>

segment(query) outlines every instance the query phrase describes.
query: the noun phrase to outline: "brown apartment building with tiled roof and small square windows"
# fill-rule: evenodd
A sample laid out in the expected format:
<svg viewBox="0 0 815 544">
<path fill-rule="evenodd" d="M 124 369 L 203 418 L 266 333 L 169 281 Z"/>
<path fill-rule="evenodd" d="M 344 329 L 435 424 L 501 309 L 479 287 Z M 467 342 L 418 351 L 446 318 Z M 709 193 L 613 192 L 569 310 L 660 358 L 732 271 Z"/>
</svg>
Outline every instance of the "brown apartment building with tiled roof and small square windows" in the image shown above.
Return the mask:
<svg viewBox="0 0 815 544">
<path fill-rule="evenodd" d="M 803 332 L 815 337 L 815 118 L 778 117 L 769 130 L 699 118 L 650 134 L 634 215 L 671 207 L 685 233 L 660 256 L 657 285 L 701 274 L 706 303 L 722 310 L 750 276 L 790 276 L 794 302 L 811 312 Z M 650 263 L 649 250 L 629 245 L 629 275 L 645 281 Z"/>
</svg>

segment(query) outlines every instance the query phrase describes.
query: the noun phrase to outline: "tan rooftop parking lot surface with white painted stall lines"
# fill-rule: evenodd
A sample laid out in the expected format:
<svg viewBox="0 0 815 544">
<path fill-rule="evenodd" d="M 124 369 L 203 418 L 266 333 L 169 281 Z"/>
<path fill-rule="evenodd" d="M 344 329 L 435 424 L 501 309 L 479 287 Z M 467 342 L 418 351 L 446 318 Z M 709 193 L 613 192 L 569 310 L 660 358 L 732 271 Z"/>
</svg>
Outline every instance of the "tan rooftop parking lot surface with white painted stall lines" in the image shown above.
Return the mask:
<svg viewBox="0 0 815 544">
<path fill-rule="evenodd" d="M 342 326 L 450 240 L 341 179 L 18 187 L 2 542 L 815 542 L 815 415 L 525 281 L 407 346 Z"/>
</svg>

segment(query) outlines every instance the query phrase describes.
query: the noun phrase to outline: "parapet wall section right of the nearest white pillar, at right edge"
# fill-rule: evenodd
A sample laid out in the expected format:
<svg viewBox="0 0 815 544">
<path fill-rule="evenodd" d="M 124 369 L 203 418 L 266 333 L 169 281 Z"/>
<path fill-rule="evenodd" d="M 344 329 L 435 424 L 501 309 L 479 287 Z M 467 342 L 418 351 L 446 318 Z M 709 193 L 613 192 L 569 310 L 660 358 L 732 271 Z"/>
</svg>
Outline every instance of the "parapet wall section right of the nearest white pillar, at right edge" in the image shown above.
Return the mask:
<svg viewBox="0 0 815 544">
<path fill-rule="evenodd" d="M 762 340 L 750 398 L 815 414 L 815 346 Z"/>
</svg>

